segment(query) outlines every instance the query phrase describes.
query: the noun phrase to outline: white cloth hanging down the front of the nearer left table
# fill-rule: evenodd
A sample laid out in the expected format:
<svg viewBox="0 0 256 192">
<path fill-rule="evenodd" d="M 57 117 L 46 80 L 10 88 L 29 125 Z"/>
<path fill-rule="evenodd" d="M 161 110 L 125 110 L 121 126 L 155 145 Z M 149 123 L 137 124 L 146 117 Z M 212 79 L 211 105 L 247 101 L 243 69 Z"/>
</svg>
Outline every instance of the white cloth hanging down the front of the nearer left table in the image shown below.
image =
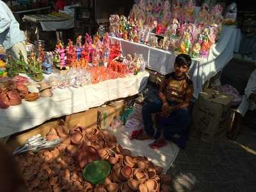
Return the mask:
<svg viewBox="0 0 256 192">
<path fill-rule="evenodd" d="M 136 95 L 147 85 L 148 72 L 111 79 L 80 88 L 52 90 L 50 98 L 23 101 L 19 106 L 0 109 L 0 138 L 31 129 L 46 120 L 85 111 L 105 102 Z"/>
</svg>

